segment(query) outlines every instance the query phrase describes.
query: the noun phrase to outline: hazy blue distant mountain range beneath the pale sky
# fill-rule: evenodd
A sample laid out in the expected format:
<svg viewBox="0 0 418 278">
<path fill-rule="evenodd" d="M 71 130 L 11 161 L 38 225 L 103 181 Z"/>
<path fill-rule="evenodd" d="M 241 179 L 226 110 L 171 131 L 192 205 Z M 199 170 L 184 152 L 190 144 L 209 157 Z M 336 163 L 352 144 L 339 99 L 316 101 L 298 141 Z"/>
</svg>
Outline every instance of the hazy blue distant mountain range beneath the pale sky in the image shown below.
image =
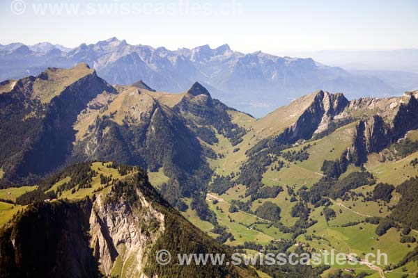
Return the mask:
<svg viewBox="0 0 418 278">
<path fill-rule="evenodd" d="M 401 93 L 376 76 L 351 74 L 311 58 L 278 57 L 261 51 L 242 54 L 228 44 L 171 51 L 110 38 L 67 50 L 47 42 L 31 47 L 1 46 L 0 79 L 84 62 L 110 83 L 122 85 L 143 80 L 155 90 L 182 92 L 199 81 L 214 97 L 256 116 L 318 89 L 344 92 L 348 98 Z"/>
</svg>

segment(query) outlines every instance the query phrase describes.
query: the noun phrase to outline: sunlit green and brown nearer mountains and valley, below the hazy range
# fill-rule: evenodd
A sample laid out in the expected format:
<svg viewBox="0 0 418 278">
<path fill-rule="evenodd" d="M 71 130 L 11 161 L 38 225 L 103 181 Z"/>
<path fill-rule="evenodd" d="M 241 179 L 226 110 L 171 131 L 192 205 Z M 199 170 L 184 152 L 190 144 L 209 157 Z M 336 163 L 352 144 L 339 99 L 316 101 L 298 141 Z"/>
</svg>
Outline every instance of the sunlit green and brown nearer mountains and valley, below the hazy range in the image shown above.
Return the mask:
<svg viewBox="0 0 418 278">
<path fill-rule="evenodd" d="M 111 85 L 86 63 L 0 83 L 6 277 L 16 277 L 17 267 L 19 277 L 64 268 L 123 277 L 185 271 L 374 278 L 385 277 L 384 270 L 387 277 L 418 271 L 418 91 L 350 100 L 316 90 L 256 119 L 200 82 L 179 93 L 154 89 L 144 79 Z M 72 238 L 37 230 L 71 231 Z M 49 250 L 34 268 L 43 245 L 29 242 L 38 238 L 76 259 Z M 341 265 L 171 265 L 164 272 L 144 253 L 164 246 L 245 254 L 327 248 L 361 260 L 380 250 L 390 264 L 350 273 Z"/>
</svg>

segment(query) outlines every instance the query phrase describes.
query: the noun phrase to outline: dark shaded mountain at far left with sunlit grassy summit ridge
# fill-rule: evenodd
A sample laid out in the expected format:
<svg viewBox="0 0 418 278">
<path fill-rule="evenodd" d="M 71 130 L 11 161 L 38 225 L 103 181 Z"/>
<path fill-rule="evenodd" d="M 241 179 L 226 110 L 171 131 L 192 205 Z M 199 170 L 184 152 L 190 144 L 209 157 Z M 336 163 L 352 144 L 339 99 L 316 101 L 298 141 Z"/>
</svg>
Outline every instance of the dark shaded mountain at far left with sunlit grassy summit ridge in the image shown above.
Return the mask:
<svg viewBox="0 0 418 278">
<path fill-rule="evenodd" d="M 62 85 L 61 81 L 49 82 L 49 72 L 56 71 L 49 69 L 37 77 L 17 81 L 13 90 L 0 95 L 0 165 L 6 173 L 3 183 L 26 178 L 30 181 L 62 165 L 75 140 L 72 124 L 77 115 L 101 92 L 116 92 L 87 65 L 77 67 L 86 74 L 68 85 L 63 85 L 67 76 L 63 76 Z M 72 70 L 79 70 L 77 67 Z M 42 82 L 52 89 L 34 88 Z M 49 90 L 55 96 L 45 101 Z"/>
</svg>

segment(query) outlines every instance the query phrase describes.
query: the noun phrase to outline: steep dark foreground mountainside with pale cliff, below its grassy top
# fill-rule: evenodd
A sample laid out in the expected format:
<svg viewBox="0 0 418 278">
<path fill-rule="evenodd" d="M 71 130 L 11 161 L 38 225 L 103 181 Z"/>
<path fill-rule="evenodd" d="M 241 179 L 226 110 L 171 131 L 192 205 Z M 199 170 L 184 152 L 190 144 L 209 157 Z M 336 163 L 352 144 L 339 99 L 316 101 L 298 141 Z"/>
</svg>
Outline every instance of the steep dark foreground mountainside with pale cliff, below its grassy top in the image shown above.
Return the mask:
<svg viewBox="0 0 418 278">
<path fill-rule="evenodd" d="M 128 170 L 131 171 L 131 170 Z M 157 250 L 173 261 L 158 265 Z M 0 277 L 240 277 L 233 266 L 179 267 L 176 254 L 229 253 L 132 172 L 93 197 L 39 202 L 0 231 Z"/>
</svg>

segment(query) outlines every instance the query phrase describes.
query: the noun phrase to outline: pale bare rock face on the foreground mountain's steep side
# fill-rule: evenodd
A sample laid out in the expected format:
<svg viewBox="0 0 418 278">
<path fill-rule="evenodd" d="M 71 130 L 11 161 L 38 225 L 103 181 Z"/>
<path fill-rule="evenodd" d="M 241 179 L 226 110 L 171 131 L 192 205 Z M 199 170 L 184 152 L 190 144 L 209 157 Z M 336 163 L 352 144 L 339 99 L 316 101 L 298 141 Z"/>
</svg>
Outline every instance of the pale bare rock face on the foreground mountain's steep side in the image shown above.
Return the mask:
<svg viewBox="0 0 418 278">
<path fill-rule="evenodd" d="M 89 220 L 91 247 L 107 277 L 116 272 L 123 277 L 144 277 L 146 251 L 164 232 L 164 215 L 146 201 L 140 190 L 136 193 L 140 208 L 106 204 L 100 195 L 94 202 Z M 153 230 L 148 229 L 150 223 Z M 121 270 L 116 270 L 117 264 L 122 265 Z"/>
</svg>

